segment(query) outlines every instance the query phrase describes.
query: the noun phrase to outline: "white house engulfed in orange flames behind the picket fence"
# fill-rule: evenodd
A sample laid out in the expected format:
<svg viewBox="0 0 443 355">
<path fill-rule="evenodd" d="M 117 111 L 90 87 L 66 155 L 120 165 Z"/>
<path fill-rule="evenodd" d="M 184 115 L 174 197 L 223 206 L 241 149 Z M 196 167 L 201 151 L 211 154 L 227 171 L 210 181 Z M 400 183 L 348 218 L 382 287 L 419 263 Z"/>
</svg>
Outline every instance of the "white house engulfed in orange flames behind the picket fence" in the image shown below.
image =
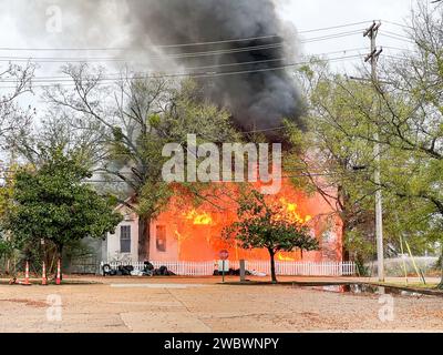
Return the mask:
<svg viewBox="0 0 443 355">
<path fill-rule="evenodd" d="M 223 230 L 236 221 L 237 206 L 230 197 L 220 199 L 218 206 L 212 203 L 193 206 L 173 199 L 165 212 L 151 223 L 150 243 L 145 246 L 148 258 L 156 262 L 208 262 L 217 260 L 220 250 L 228 250 L 231 261 L 267 261 L 269 255 L 266 250 L 243 250 L 235 241 L 223 237 Z M 277 261 L 342 261 L 342 224 L 327 201 L 320 195 L 297 191 L 286 180 L 280 193 L 271 199 L 282 207 L 282 219 L 306 224 L 320 243 L 319 251 L 279 253 Z M 115 234 L 106 237 L 107 261 L 137 262 L 137 216 L 125 205 L 120 205 L 119 210 L 125 217 Z"/>
</svg>

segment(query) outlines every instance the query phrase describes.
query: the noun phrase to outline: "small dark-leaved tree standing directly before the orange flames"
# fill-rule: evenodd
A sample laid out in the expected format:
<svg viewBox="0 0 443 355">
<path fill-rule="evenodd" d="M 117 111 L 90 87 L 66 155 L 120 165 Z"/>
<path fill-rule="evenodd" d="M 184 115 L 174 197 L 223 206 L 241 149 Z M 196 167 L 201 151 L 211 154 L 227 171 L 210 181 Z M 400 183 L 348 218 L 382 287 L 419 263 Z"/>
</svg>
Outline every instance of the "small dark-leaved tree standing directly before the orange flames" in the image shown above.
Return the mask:
<svg viewBox="0 0 443 355">
<path fill-rule="evenodd" d="M 274 283 L 277 283 L 275 256 L 278 252 L 318 250 L 318 241 L 309 235 L 307 226 L 281 217 L 282 206 L 266 201 L 258 191 L 243 193 L 238 204 L 238 222 L 226 227 L 224 235 L 235 237 L 244 248 L 266 248 Z"/>
</svg>

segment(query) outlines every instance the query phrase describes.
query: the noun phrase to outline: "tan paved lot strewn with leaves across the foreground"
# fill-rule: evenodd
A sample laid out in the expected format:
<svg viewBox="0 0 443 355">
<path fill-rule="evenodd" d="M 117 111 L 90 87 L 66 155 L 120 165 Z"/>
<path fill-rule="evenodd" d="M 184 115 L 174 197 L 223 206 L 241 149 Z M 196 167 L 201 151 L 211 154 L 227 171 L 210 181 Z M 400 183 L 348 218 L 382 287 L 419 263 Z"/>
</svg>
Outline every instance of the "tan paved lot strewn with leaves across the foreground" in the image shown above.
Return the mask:
<svg viewBox="0 0 443 355">
<path fill-rule="evenodd" d="M 435 296 L 391 302 L 215 277 L 93 281 L 101 284 L 0 285 L 0 332 L 443 332 Z"/>
</svg>

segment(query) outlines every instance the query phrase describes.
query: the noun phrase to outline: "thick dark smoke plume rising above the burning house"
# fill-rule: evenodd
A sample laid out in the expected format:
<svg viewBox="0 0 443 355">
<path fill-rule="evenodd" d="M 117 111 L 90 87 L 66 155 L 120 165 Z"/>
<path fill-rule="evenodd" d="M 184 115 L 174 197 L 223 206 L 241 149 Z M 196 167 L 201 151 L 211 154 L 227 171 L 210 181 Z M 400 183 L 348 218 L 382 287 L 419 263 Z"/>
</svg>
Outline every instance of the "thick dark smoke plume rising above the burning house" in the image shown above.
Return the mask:
<svg viewBox="0 0 443 355">
<path fill-rule="evenodd" d="M 132 45 L 157 44 L 163 55 L 205 78 L 207 97 L 229 109 L 244 130 L 276 138 L 281 132 L 268 130 L 281 126 L 284 118 L 298 122 L 300 95 L 290 71 L 281 70 L 295 61 L 296 30 L 279 19 L 271 0 L 127 0 L 127 6 Z M 174 47 L 217 41 L 225 42 Z"/>
</svg>

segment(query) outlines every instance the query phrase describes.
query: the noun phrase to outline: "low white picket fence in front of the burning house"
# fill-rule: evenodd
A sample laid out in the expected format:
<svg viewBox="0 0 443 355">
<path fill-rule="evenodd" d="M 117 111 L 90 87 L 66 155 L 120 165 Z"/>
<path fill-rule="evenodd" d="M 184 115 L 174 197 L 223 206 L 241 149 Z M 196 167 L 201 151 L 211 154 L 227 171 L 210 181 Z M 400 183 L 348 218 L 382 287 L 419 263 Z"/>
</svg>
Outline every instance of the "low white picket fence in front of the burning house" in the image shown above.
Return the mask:
<svg viewBox="0 0 443 355">
<path fill-rule="evenodd" d="M 154 267 L 166 266 L 176 275 L 181 276 L 210 276 L 217 268 L 217 262 L 151 262 Z M 109 264 L 112 268 L 127 265 L 123 262 L 102 263 Z M 143 262 L 133 262 L 131 265 L 135 270 L 143 270 Z M 229 267 L 238 270 L 239 262 L 229 262 Z M 270 274 L 270 263 L 268 261 L 246 261 L 246 270 Z M 276 272 L 280 276 L 352 276 L 356 275 L 356 263 L 353 262 L 276 262 Z"/>
</svg>

